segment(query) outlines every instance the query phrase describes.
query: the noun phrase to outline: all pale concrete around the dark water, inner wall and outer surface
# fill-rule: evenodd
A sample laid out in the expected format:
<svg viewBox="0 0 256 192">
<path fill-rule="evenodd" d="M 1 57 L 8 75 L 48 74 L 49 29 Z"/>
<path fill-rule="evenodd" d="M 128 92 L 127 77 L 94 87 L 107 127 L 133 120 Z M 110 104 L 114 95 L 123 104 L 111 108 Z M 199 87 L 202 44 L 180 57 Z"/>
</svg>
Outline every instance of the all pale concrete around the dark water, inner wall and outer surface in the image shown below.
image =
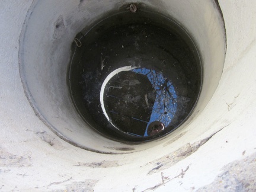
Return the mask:
<svg viewBox="0 0 256 192">
<path fill-rule="evenodd" d="M 75 34 L 128 1 L 1 1 L 1 191 L 256 190 L 256 1 L 219 1 L 225 30 L 217 1 L 137 2 L 197 42 L 204 81 L 188 122 L 131 146 L 84 129 L 73 110 L 66 70 Z"/>
</svg>

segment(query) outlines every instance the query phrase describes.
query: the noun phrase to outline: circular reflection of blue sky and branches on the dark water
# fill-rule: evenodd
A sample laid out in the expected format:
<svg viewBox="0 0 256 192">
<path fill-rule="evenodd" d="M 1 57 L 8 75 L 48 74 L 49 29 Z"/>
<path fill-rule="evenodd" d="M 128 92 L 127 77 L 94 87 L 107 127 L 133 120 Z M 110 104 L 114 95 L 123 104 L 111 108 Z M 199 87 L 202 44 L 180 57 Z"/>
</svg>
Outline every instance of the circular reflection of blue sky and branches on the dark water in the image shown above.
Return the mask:
<svg viewBox="0 0 256 192">
<path fill-rule="evenodd" d="M 158 135 L 177 110 L 174 86 L 158 71 L 147 68 L 117 70 L 103 84 L 103 111 L 123 132 L 146 137 Z"/>
</svg>

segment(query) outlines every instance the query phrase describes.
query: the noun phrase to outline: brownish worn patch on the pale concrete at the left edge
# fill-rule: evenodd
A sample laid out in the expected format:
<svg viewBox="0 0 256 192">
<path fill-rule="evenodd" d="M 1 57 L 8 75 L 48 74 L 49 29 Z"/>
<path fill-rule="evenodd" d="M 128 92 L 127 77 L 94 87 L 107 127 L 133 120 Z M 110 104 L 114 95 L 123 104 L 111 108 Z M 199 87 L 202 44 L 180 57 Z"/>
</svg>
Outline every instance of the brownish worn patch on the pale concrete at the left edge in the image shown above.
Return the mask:
<svg viewBox="0 0 256 192">
<path fill-rule="evenodd" d="M 25 152 L 24 155 L 14 155 L 0 149 L 0 167 L 30 167 L 31 152 Z"/>
</svg>

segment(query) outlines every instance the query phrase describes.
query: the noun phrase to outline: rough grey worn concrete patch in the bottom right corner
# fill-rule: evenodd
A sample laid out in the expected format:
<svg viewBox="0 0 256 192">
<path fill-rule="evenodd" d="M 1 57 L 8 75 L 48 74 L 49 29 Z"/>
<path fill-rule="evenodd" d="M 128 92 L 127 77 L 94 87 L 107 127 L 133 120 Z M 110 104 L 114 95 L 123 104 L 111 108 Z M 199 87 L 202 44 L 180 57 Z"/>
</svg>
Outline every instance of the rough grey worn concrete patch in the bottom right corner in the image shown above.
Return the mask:
<svg viewBox="0 0 256 192">
<path fill-rule="evenodd" d="M 202 191 L 256 191 L 256 153 L 222 168 L 213 183 L 199 188 Z"/>
</svg>

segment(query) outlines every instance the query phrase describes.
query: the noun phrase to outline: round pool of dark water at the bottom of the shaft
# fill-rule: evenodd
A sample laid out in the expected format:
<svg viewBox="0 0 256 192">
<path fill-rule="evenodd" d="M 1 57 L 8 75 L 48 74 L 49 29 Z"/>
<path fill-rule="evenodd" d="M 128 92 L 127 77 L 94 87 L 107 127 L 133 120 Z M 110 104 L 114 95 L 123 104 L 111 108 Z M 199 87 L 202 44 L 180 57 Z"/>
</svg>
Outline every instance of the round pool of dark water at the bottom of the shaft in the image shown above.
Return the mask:
<svg viewBox="0 0 256 192">
<path fill-rule="evenodd" d="M 114 14 L 76 36 L 68 82 L 81 117 L 103 135 L 137 142 L 184 122 L 200 93 L 193 41 L 147 11 Z"/>
</svg>

